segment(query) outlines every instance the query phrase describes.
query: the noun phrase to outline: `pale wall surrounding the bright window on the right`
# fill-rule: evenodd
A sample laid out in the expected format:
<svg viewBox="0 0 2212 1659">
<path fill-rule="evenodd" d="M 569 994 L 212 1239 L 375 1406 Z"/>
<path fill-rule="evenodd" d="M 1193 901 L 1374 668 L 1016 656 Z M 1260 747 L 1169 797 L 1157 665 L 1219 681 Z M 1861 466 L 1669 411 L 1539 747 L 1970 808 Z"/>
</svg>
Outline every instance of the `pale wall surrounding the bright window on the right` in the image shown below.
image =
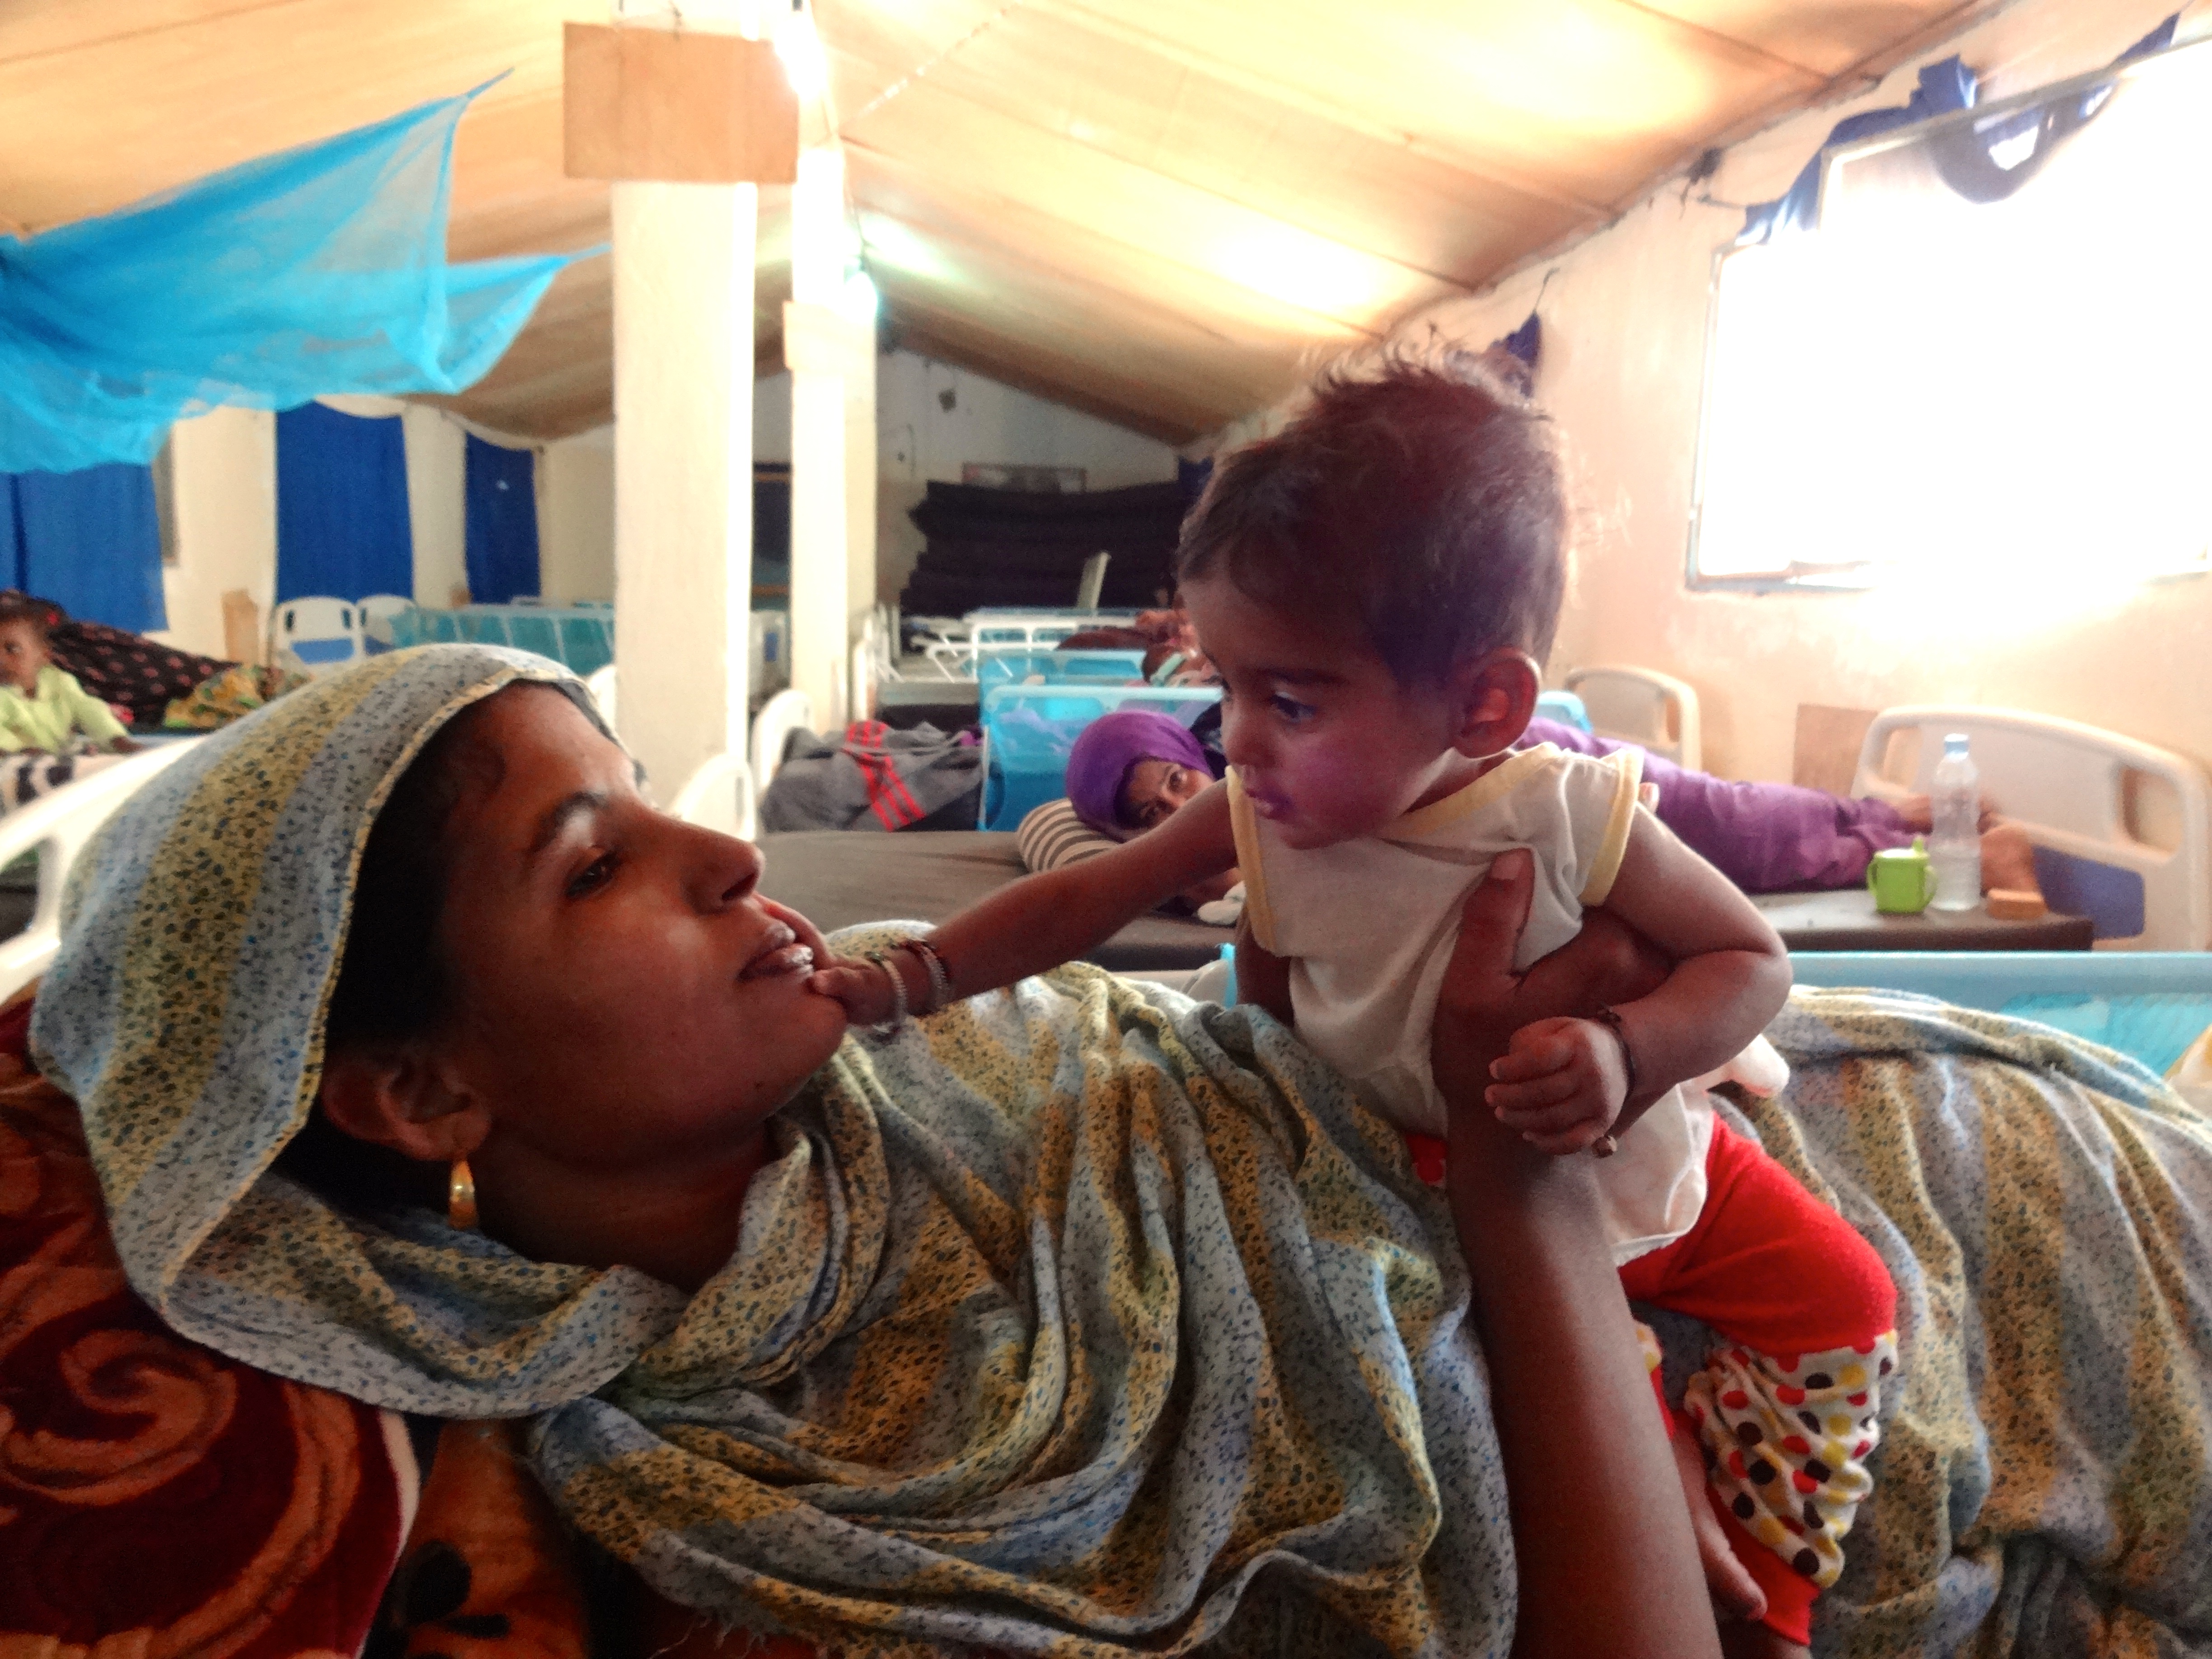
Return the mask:
<svg viewBox="0 0 2212 1659">
<path fill-rule="evenodd" d="M 1982 97 L 2008 97 L 2095 69 L 2148 33 L 2172 0 L 2015 0 L 1927 53 L 1962 53 Z M 2183 29 L 2212 20 L 2199 0 Z M 1763 201 L 1858 108 L 1902 104 L 1918 62 L 1880 88 L 1792 117 L 1732 148 L 1708 186 Z M 1694 192 L 1692 192 L 1694 197 Z M 1798 703 L 1885 708 L 1960 701 L 2033 708 L 2212 761 L 2212 580 L 2084 591 L 2015 591 L 1993 560 L 1989 591 L 1924 606 L 1902 586 L 1874 593 L 1692 593 L 1683 582 L 1712 254 L 1739 208 L 1657 190 L 1608 230 L 1495 292 L 1440 307 L 1440 325 L 1486 345 L 1542 299 L 1537 398 L 1566 434 L 1584 504 L 1575 588 L 1548 679 L 1577 664 L 1630 661 L 1688 679 L 1719 772 L 1787 779 Z M 2095 349 L 2095 341 L 2051 343 Z M 2026 343 L 2024 349 L 2042 349 Z M 1940 365 L 1896 365 L 1900 396 L 1962 396 Z M 1232 438 L 1256 422 L 1239 422 Z M 2088 584 L 2084 584 L 2088 588 Z"/>
</svg>

